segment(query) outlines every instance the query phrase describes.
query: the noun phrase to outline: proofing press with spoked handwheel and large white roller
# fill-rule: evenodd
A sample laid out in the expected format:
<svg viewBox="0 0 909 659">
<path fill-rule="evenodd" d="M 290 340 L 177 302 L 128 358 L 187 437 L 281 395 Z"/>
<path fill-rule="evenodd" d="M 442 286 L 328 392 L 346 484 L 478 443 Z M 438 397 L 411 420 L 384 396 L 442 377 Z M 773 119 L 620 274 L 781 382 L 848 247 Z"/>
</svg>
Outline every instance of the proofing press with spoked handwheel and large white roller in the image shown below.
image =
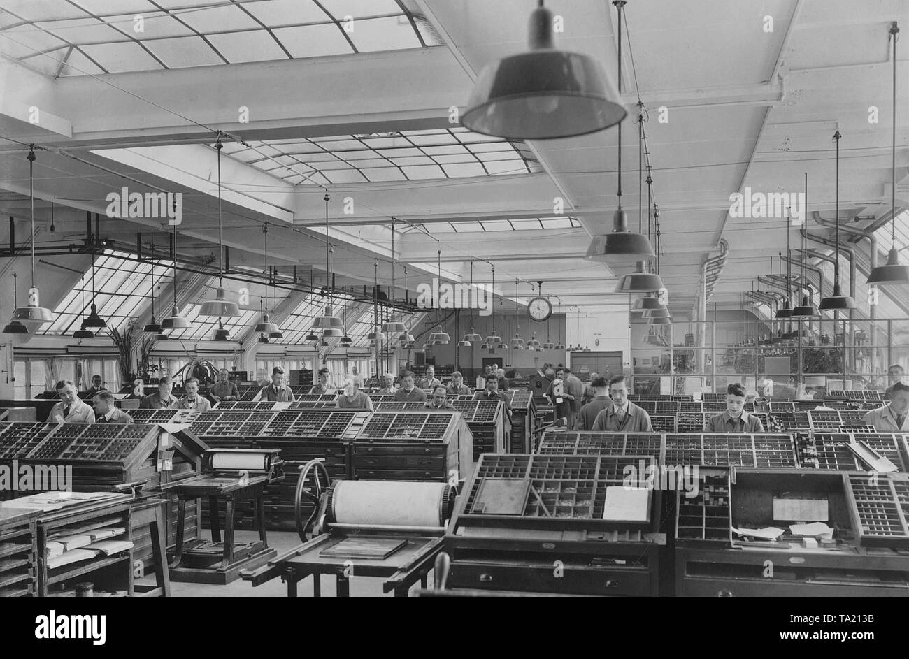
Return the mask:
<svg viewBox="0 0 909 659">
<path fill-rule="evenodd" d="M 306 504 L 315 504 L 315 510 Z M 445 483 L 404 481 L 330 482 L 324 464 L 306 464 L 297 481 L 297 532 L 303 544 L 240 575 L 254 586 L 280 576 L 287 596 L 313 576 L 321 595 L 321 575 L 335 574 L 338 596 L 350 594 L 352 577 L 385 578 L 385 593 L 406 596 L 442 551 L 445 524 L 454 507 L 454 488 Z"/>
</svg>

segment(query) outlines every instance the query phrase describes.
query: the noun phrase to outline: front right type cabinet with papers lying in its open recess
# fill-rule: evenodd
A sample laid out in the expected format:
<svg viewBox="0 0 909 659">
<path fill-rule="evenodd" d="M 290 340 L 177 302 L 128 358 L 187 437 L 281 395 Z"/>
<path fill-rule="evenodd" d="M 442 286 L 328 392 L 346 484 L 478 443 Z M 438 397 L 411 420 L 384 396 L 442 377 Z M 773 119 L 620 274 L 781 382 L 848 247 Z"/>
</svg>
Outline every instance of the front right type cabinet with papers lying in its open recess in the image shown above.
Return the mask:
<svg viewBox="0 0 909 659">
<path fill-rule="evenodd" d="M 824 470 L 737 468 L 734 474 L 734 480 L 722 473 L 707 476 L 714 487 L 694 501 L 678 497 L 677 595 L 905 595 L 906 474 L 878 474 L 876 485 L 868 474 Z M 702 488 L 707 484 L 702 480 Z M 809 548 L 788 531 L 774 542 L 732 533 L 743 527 L 788 529 L 794 520 L 777 519 L 774 500 L 791 493 L 827 502 L 827 518 L 815 521 L 834 529 L 832 540 Z M 771 564 L 773 578 L 768 578 Z"/>
</svg>

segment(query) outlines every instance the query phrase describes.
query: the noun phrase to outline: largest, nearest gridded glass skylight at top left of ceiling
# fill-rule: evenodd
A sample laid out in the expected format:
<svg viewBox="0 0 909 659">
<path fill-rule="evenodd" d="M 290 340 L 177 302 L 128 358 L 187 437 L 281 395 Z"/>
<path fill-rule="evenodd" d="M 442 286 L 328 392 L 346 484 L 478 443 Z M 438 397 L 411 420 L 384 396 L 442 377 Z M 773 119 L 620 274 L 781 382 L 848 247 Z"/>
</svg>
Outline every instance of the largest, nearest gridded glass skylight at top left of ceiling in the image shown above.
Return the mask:
<svg viewBox="0 0 909 659">
<path fill-rule="evenodd" d="M 32 66 L 56 75 L 60 63 L 54 57 L 62 59 L 62 55 L 42 53 L 66 43 L 77 49 L 93 47 L 89 56 L 106 71 L 161 69 L 141 46 L 145 56 L 135 55 L 125 46 L 135 46 L 140 38 L 160 56 L 165 68 L 284 59 L 287 55 L 275 38 L 293 57 L 423 45 L 420 36 L 425 31 L 411 23 L 403 5 L 395 0 L 330 0 L 323 6 L 325 10 L 312 0 L 5 0 L 0 7 L 0 25 L 6 26 L 0 33 L 0 49 L 15 59 L 35 58 Z M 135 15 L 145 21 L 139 35 L 134 31 Z M 352 16 L 353 22 L 337 22 L 345 16 Z M 171 37 L 190 35 L 204 35 L 208 42 L 196 36 L 166 43 Z M 437 45 L 435 37 L 424 42 Z M 61 75 L 84 72 L 95 73 L 74 62 Z"/>
</svg>

